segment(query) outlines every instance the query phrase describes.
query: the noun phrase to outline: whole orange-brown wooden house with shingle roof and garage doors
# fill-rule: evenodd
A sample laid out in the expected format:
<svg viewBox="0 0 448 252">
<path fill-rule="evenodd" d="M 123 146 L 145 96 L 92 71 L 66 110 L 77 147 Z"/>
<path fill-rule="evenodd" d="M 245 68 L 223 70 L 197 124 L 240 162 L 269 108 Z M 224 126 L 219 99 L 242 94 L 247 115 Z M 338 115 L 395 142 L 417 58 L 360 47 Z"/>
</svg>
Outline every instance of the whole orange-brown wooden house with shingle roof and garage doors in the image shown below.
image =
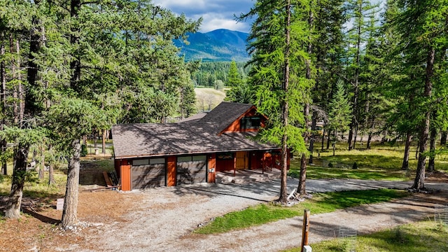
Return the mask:
<svg viewBox="0 0 448 252">
<path fill-rule="evenodd" d="M 114 125 L 121 188 L 214 183 L 216 172 L 278 168 L 279 147 L 253 139 L 266 120 L 251 104 L 222 102 L 179 123 Z"/>
</svg>

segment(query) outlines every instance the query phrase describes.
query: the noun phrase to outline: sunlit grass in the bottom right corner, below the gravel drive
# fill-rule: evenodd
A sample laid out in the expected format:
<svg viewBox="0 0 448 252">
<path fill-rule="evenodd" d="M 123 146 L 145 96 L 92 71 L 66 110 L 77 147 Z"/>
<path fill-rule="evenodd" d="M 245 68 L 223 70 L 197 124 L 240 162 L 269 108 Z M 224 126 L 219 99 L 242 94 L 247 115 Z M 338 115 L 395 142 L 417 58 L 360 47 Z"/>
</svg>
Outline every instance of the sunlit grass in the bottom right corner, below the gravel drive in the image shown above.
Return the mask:
<svg viewBox="0 0 448 252">
<path fill-rule="evenodd" d="M 361 235 L 356 238 L 356 251 L 448 251 L 448 226 L 435 221 L 422 221 Z M 311 244 L 313 251 L 344 251 L 344 239 Z M 293 248 L 288 252 L 300 251 Z"/>
</svg>

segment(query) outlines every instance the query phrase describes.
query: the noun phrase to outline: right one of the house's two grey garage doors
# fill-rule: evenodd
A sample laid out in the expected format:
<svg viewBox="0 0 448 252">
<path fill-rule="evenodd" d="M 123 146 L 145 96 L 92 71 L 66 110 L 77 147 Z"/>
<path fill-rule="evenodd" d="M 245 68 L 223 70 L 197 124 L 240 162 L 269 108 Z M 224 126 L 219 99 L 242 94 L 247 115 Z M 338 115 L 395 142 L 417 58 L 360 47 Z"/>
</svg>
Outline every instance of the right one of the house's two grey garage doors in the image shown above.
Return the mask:
<svg viewBox="0 0 448 252">
<path fill-rule="evenodd" d="M 177 158 L 177 185 L 207 182 L 207 156 Z"/>
</svg>

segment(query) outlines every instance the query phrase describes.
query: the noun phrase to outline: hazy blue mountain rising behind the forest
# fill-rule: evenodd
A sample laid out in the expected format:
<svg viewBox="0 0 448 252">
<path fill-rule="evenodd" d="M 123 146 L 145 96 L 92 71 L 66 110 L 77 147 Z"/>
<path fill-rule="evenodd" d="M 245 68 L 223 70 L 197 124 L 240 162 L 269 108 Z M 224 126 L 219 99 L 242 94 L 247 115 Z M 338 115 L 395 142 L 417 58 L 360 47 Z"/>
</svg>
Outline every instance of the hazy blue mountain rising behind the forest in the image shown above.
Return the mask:
<svg viewBox="0 0 448 252">
<path fill-rule="evenodd" d="M 181 40 L 174 44 L 181 48 L 185 60 L 202 59 L 203 62 L 246 62 L 249 56 L 246 52 L 247 33 L 216 29 L 206 33 L 188 33 L 188 45 Z"/>
</svg>

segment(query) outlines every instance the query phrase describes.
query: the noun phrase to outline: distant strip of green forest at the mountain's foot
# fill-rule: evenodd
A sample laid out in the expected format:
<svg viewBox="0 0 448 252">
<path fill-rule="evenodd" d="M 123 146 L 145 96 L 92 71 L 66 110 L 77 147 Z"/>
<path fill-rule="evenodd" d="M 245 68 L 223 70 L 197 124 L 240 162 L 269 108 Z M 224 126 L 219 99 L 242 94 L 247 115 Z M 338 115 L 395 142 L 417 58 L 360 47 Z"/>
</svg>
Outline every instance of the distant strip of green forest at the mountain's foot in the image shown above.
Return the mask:
<svg viewBox="0 0 448 252">
<path fill-rule="evenodd" d="M 228 81 L 230 63 L 232 62 L 202 62 L 200 68 L 191 75 L 193 83 L 195 86 L 215 87 L 218 89 L 219 83 Z M 246 66 L 246 62 L 236 63 L 239 76 L 243 79 L 246 78 L 248 71 L 251 70 L 251 66 Z"/>
</svg>

